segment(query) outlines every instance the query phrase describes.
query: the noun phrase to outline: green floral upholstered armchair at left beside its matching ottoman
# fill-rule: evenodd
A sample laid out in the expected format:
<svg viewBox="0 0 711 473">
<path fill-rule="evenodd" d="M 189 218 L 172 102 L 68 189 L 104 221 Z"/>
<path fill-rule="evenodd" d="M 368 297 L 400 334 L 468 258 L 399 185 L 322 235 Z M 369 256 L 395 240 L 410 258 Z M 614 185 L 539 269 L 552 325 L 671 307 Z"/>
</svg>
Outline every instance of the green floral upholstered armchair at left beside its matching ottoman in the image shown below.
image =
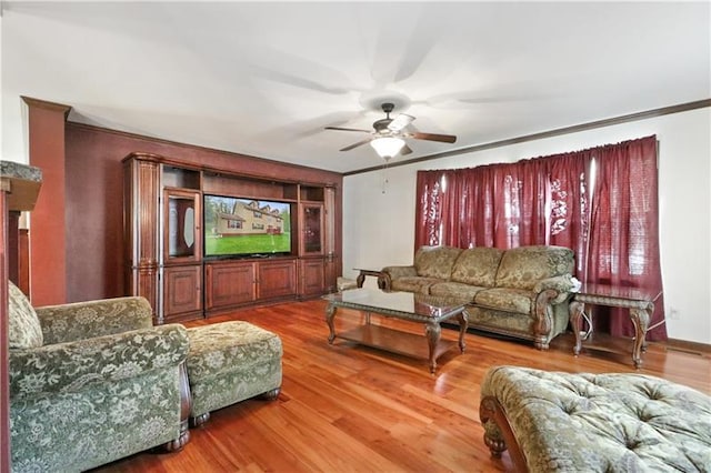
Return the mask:
<svg viewBox="0 0 711 473">
<path fill-rule="evenodd" d="M 143 298 L 34 310 L 9 283 L 13 472 L 88 470 L 189 439 L 179 324 L 152 326 Z"/>
</svg>

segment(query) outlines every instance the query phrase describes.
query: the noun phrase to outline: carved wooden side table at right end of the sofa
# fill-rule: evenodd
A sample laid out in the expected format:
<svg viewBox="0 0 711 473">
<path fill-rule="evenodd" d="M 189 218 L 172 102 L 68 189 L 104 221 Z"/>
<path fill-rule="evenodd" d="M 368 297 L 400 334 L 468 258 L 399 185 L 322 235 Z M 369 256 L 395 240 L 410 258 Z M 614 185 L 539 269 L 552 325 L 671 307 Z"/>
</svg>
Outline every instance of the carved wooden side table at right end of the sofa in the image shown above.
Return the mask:
<svg viewBox="0 0 711 473">
<path fill-rule="evenodd" d="M 580 292 L 573 295 L 569 306 L 570 324 L 575 335 L 575 345 L 573 346 L 575 356 L 580 354 L 582 345 L 580 332 L 582 330 L 582 315 L 585 304 L 629 309 L 630 320 L 634 325 L 632 361 L 634 362 L 634 368 L 641 368 L 642 352 L 647 350 L 647 332 L 651 329 L 649 321 L 654 313 L 654 301 L 661 295 L 661 291 L 647 291 L 643 289 L 621 288 L 607 284 L 583 284 Z M 657 325 L 663 322 L 662 320 Z"/>
</svg>

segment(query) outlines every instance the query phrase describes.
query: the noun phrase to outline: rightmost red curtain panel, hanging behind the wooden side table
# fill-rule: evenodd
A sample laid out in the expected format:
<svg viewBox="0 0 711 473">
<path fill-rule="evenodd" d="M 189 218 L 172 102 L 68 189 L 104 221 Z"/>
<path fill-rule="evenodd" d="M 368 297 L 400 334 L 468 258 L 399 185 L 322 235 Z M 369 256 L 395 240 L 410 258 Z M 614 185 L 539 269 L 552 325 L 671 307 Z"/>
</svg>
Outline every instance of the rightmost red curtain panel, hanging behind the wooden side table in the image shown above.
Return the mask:
<svg viewBox="0 0 711 473">
<path fill-rule="evenodd" d="M 647 137 L 595 152 L 587 280 L 661 292 L 657 138 Z M 664 319 L 663 298 L 654 304 L 650 326 Z M 633 336 L 625 316 L 612 316 L 610 333 Z M 664 325 L 648 340 L 667 340 Z"/>
</svg>

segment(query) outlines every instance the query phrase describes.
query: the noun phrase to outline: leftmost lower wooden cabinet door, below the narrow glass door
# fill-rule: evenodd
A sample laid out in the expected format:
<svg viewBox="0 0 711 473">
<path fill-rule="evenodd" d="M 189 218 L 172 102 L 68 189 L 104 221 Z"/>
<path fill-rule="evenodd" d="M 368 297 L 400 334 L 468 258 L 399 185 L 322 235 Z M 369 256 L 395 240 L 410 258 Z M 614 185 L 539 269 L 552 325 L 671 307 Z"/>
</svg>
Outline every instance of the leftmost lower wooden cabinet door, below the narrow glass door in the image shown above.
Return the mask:
<svg viewBox="0 0 711 473">
<path fill-rule="evenodd" d="M 202 311 L 202 268 L 199 264 L 163 269 L 163 318 Z"/>
</svg>

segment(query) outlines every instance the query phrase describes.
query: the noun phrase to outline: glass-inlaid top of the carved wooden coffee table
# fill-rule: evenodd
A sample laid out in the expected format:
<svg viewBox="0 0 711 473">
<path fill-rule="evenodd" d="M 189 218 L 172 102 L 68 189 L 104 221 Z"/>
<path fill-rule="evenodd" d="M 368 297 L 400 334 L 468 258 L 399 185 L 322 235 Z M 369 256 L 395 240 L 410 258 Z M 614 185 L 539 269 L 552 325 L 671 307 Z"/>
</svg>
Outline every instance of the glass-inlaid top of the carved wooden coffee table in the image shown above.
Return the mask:
<svg viewBox="0 0 711 473">
<path fill-rule="evenodd" d="M 450 298 L 414 294 L 412 292 L 388 292 L 365 288 L 328 294 L 323 299 L 336 306 L 432 319 L 451 316 L 461 312 L 464 306 L 464 302 Z"/>
</svg>

